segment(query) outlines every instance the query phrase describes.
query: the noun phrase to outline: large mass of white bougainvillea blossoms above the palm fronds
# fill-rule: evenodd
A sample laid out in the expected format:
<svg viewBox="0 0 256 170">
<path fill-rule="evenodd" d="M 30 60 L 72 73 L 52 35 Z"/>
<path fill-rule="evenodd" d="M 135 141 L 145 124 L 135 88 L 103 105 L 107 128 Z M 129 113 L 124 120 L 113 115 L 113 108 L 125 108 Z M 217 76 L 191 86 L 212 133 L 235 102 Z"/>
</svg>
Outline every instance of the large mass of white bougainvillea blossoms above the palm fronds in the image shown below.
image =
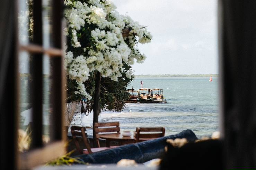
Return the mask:
<svg viewBox="0 0 256 170">
<path fill-rule="evenodd" d="M 69 78 L 77 82 L 75 93 L 90 99 L 83 84 L 89 72 L 97 70 L 102 77 L 117 81 L 124 72 L 123 63 L 145 60 L 137 44 L 150 42 L 152 35 L 129 16 L 119 14 L 109 0 L 65 0 L 65 5 L 64 31 L 70 45 L 64 66 Z M 123 29 L 129 30 L 125 37 Z M 132 72 L 126 71 L 125 75 L 131 78 Z"/>
</svg>

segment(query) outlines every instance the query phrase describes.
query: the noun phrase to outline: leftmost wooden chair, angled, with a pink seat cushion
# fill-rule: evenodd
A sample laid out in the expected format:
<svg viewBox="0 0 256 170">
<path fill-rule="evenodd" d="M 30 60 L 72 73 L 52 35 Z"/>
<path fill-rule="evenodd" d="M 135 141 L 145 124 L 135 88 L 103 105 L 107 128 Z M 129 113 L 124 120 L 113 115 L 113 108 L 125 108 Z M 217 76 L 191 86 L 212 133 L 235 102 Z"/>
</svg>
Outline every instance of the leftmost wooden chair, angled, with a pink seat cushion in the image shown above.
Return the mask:
<svg viewBox="0 0 256 170">
<path fill-rule="evenodd" d="M 79 127 L 79 126 L 72 126 L 71 128 L 71 134 L 72 134 L 72 138 L 74 140 L 74 143 L 76 145 L 77 151 L 79 152 L 79 154 L 90 154 L 90 153 L 94 153 L 94 152 L 99 152 L 99 151 L 103 151 L 106 149 L 110 149 L 107 147 L 101 147 L 101 148 L 91 148 L 90 147 L 90 142 L 87 138 L 87 133 L 86 128 L 85 127 Z M 81 149 L 79 142 L 78 142 L 78 138 L 81 137 L 83 140 L 83 143 L 85 143 L 85 146 L 87 149 Z"/>
</svg>

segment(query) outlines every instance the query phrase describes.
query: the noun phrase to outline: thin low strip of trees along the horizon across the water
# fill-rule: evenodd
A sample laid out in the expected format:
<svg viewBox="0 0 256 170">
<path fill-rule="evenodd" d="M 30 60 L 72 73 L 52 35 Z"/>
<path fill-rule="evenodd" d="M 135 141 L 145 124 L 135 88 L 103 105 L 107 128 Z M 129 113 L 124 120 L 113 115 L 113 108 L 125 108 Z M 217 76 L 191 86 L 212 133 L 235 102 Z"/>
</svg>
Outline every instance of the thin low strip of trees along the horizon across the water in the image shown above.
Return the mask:
<svg viewBox="0 0 256 170">
<path fill-rule="evenodd" d="M 140 74 L 135 75 L 135 78 L 139 77 L 219 77 L 219 74 Z"/>
</svg>

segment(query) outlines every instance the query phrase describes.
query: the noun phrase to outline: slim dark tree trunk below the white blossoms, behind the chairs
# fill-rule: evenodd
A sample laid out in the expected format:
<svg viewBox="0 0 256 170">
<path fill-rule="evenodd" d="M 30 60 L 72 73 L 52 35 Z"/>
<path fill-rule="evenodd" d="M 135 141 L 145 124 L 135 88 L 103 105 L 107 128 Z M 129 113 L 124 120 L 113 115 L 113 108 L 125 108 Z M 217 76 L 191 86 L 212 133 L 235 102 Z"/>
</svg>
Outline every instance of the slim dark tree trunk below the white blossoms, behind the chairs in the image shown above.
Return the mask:
<svg viewBox="0 0 256 170">
<path fill-rule="evenodd" d="M 100 103 L 99 103 L 99 95 L 100 95 L 100 72 L 97 71 L 95 78 L 95 91 L 94 91 L 94 102 L 93 102 L 93 139 L 94 139 L 94 147 L 97 146 L 97 139 L 94 131 L 94 123 L 98 122 L 99 113 L 100 113 Z"/>
</svg>

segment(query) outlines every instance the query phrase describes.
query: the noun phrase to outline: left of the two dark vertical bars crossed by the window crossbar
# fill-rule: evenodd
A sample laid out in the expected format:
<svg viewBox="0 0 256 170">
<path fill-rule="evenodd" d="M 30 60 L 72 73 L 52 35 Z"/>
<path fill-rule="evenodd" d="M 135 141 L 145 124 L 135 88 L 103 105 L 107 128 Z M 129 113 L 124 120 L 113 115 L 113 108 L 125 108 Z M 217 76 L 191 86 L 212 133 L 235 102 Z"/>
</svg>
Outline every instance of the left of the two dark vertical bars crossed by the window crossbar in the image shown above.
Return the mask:
<svg viewBox="0 0 256 170">
<path fill-rule="evenodd" d="M 32 43 L 42 46 L 42 0 L 33 1 L 33 40 Z M 37 53 L 32 55 L 30 63 L 30 73 L 32 76 L 31 83 L 31 102 L 32 102 L 32 148 L 43 146 L 43 54 Z"/>
</svg>

